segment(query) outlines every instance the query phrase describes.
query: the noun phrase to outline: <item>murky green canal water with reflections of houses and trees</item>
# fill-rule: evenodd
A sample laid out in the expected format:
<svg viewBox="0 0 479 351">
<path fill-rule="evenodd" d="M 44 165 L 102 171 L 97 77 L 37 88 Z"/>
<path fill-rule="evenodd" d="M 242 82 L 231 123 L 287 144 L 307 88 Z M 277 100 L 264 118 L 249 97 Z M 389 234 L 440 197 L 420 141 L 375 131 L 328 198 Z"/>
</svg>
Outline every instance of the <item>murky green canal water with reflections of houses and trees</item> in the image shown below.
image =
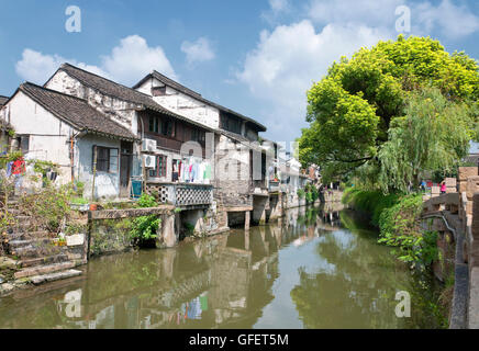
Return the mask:
<svg viewBox="0 0 479 351">
<path fill-rule="evenodd" d="M 354 212 L 299 208 L 175 249 L 90 260 L 0 298 L 0 328 L 437 328 L 437 290 Z M 399 318 L 396 294 L 411 296 Z"/>
</svg>

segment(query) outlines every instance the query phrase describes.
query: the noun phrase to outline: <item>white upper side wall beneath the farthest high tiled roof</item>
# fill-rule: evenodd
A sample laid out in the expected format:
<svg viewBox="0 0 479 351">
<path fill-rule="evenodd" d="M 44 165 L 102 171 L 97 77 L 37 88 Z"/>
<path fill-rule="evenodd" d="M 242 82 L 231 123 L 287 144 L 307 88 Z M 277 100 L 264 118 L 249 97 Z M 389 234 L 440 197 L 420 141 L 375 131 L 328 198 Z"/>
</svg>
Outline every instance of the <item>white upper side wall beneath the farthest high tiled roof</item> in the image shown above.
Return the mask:
<svg viewBox="0 0 479 351">
<path fill-rule="evenodd" d="M 164 87 L 157 79 L 148 79 L 136 90 L 152 95 L 153 87 Z M 207 125 L 211 128 L 220 127 L 220 111 L 216 107 L 210 106 L 202 101 L 191 98 L 182 92 L 170 87 L 166 88 L 166 95 L 152 97 L 158 104 L 179 115 L 188 117 L 194 122 Z"/>
</svg>

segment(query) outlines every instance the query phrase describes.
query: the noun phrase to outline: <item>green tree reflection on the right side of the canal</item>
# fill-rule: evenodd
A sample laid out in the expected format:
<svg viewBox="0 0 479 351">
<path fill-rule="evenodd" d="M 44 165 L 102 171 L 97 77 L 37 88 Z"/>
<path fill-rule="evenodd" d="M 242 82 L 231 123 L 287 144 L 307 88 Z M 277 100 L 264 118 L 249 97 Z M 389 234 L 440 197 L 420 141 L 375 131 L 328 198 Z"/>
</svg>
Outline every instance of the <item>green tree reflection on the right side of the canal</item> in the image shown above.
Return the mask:
<svg viewBox="0 0 479 351">
<path fill-rule="evenodd" d="M 421 286 L 404 264 L 376 242 L 377 234 L 348 212 L 341 219 L 349 230 L 325 234 L 316 253 L 325 263 L 318 272 L 299 269 L 291 291 L 307 328 L 437 327 L 428 285 Z M 425 288 L 424 288 L 425 287 Z M 398 291 L 411 294 L 411 318 L 398 318 Z"/>
</svg>

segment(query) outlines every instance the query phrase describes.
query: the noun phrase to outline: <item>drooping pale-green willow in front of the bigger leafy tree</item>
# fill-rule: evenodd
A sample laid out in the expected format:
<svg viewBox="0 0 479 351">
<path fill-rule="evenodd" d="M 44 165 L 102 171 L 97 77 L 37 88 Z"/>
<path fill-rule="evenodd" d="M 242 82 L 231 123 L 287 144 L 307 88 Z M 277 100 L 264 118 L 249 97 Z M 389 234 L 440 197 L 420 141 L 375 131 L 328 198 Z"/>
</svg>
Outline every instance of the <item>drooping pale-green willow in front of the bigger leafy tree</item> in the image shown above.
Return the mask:
<svg viewBox="0 0 479 351">
<path fill-rule="evenodd" d="M 393 120 L 378 154 L 383 189 L 405 191 L 417 188 L 424 172 L 452 171 L 474 136 L 470 112 L 435 88 L 410 94 L 405 116 Z"/>
</svg>

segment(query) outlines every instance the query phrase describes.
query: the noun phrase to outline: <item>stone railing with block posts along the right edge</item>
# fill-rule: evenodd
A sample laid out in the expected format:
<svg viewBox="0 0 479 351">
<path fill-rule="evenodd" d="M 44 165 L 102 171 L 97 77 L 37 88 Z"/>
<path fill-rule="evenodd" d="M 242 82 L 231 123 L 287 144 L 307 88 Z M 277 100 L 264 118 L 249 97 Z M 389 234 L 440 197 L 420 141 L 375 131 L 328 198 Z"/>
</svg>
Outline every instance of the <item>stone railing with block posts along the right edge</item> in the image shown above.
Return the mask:
<svg viewBox="0 0 479 351">
<path fill-rule="evenodd" d="M 458 183 L 446 179 L 446 194 L 425 196 L 423 219 L 433 230 L 454 235 L 454 297 L 449 328 L 479 328 L 479 177 L 477 167 L 460 167 Z M 456 188 L 459 192 L 453 192 Z M 439 242 L 438 242 L 439 244 Z M 438 245 L 439 246 L 439 245 Z"/>
</svg>

